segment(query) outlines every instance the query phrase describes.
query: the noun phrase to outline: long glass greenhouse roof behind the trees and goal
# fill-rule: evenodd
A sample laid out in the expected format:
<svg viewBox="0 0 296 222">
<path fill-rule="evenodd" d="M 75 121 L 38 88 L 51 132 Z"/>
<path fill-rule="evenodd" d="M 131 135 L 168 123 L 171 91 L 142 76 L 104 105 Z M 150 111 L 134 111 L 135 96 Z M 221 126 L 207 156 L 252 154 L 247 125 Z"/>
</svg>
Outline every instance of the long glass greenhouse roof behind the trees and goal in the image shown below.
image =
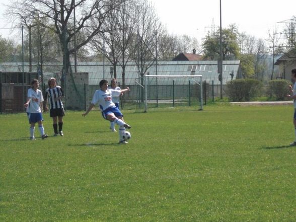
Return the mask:
<svg viewBox="0 0 296 222">
<path fill-rule="evenodd" d="M 226 84 L 232 78 L 239 78 L 240 75 L 240 61 L 223 61 L 223 83 Z M 52 77 L 53 74 L 61 72 L 61 63 L 46 63 L 43 65 L 44 79 Z M 73 69 L 73 68 L 72 68 Z M 25 63 L 25 71 L 29 71 L 29 63 Z M 36 64 L 33 65 L 33 70 L 36 70 Z M 113 66 L 105 62 L 105 75 L 103 62 L 78 62 L 78 72 L 89 73 L 89 85 L 99 85 L 99 82 L 105 77 L 108 81 L 111 75 L 114 77 L 112 71 Z M 0 71 L 22 71 L 22 63 L 0 63 Z M 117 81 L 122 82 L 120 65 L 116 66 Z M 161 76 L 187 76 L 187 75 L 202 75 L 203 81 L 209 84 L 219 85 L 217 73 L 217 61 L 158 61 L 151 65 L 145 75 L 161 75 Z M 135 85 L 135 80 L 139 78 L 138 68 L 135 62 L 129 62 L 125 68 L 125 85 Z M 159 80 L 161 81 L 161 80 Z M 177 80 L 176 80 L 177 81 Z M 178 80 L 179 81 L 179 80 Z M 176 82 L 176 84 L 187 84 L 187 82 Z M 196 80 L 197 81 L 197 80 Z M 158 82 L 158 84 L 165 84 L 166 81 Z"/>
</svg>

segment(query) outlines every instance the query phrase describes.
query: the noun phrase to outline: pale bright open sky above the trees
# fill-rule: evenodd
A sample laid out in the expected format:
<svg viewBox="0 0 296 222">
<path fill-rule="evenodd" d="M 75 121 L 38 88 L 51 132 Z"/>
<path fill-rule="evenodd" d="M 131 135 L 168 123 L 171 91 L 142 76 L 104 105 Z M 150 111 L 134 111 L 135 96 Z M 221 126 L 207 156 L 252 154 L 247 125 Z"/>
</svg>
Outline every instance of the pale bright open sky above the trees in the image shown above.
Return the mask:
<svg viewBox="0 0 296 222">
<path fill-rule="evenodd" d="M 149 0 L 170 34 L 186 34 L 202 40 L 212 27 L 220 24 L 219 0 Z M 9 33 L 11 24 L 4 17 L 10 0 L 0 1 L 0 34 L 20 38 L 20 32 Z M 222 27 L 236 24 L 239 32 L 267 39 L 268 30 L 280 32 L 287 21 L 296 16 L 296 0 L 221 0 Z"/>
</svg>

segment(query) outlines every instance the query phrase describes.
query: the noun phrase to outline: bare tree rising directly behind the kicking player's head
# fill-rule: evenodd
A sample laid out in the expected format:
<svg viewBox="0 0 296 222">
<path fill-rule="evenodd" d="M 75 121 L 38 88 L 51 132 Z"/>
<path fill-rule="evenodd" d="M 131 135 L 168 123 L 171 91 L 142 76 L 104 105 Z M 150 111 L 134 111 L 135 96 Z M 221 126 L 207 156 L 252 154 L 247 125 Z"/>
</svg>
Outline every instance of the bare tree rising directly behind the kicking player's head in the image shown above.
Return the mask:
<svg viewBox="0 0 296 222">
<path fill-rule="evenodd" d="M 137 19 L 135 3 L 135 0 L 129 0 L 114 9 L 102 25 L 104 31 L 90 42 L 113 65 L 114 78 L 117 77 L 116 65 L 119 64 L 122 67 L 123 87 L 125 86 L 126 64 L 136 50 L 133 47 Z M 96 22 L 96 18 L 93 21 Z"/>
</svg>

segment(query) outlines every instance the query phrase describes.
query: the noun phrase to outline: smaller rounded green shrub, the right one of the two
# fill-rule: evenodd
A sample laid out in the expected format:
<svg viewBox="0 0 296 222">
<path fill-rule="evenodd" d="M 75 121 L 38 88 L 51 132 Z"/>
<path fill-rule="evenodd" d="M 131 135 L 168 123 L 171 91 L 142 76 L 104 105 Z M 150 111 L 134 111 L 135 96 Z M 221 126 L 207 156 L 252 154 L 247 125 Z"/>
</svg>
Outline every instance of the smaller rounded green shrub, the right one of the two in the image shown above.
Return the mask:
<svg viewBox="0 0 296 222">
<path fill-rule="evenodd" d="M 271 80 L 268 82 L 267 93 L 276 100 L 284 100 L 289 93 L 290 82 L 287 80 Z"/>
</svg>

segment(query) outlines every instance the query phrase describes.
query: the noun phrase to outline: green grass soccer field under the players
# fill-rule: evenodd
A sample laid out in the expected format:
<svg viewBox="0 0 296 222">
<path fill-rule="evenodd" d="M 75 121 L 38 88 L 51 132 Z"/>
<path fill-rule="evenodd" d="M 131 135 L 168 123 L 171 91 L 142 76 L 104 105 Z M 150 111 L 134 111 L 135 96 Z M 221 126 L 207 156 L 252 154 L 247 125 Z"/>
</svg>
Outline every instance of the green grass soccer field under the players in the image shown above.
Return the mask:
<svg viewBox="0 0 296 222">
<path fill-rule="evenodd" d="M 296 221 L 292 106 L 149 111 L 127 145 L 95 110 L 35 141 L 0 115 L 0 221 Z"/>
</svg>

